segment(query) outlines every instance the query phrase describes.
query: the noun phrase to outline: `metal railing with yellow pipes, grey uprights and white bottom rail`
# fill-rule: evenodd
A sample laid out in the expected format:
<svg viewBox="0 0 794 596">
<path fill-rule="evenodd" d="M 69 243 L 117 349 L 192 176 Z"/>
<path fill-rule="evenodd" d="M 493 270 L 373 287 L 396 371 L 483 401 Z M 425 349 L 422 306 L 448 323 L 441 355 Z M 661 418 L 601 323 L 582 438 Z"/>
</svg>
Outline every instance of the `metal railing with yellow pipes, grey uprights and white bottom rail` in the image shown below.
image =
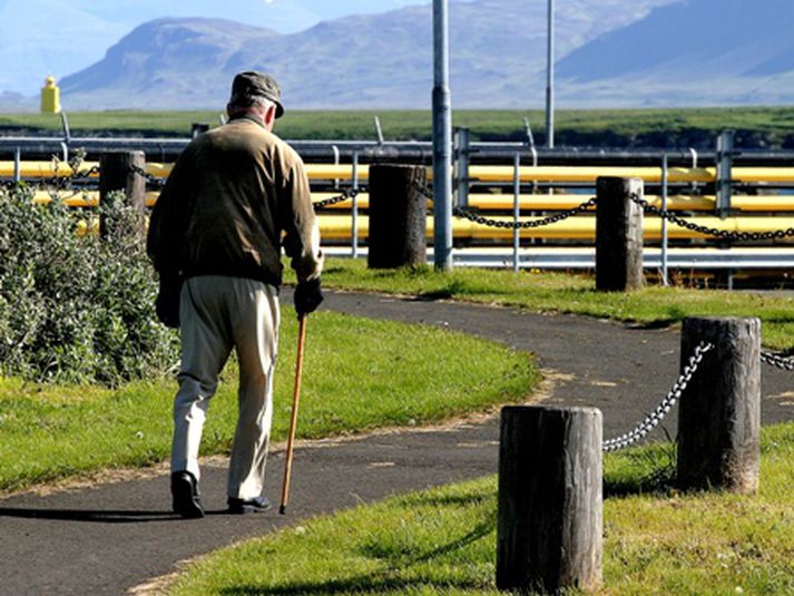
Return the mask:
<svg viewBox="0 0 794 596">
<path fill-rule="evenodd" d="M 115 140 L 115 139 L 114 139 Z M 354 145 L 351 145 L 354 146 Z M 473 145 L 472 145 L 473 146 Z M 463 149 L 459 149 L 463 150 Z M 646 219 L 644 224 L 644 235 L 650 241 L 660 241 L 660 262 L 657 264 L 654 256 L 656 248 L 650 247 L 648 254 L 649 267 L 661 268 L 663 280 L 666 280 L 667 268 L 679 267 L 716 267 L 737 268 L 764 266 L 790 267 L 794 266 L 794 258 L 787 247 L 768 248 L 766 253 L 734 251 L 734 256 L 727 258 L 717 253 L 709 253 L 703 257 L 704 248 L 689 250 L 690 257 L 684 257 L 684 248 L 670 246 L 672 241 L 678 240 L 703 240 L 716 238 L 719 242 L 780 242 L 786 240 L 794 233 L 794 217 L 781 217 L 782 213 L 794 212 L 794 193 L 790 195 L 734 195 L 731 196 L 731 207 L 733 213 L 739 216 L 718 217 L 715 212 L 724 212 L 724 205 L 719 206 L 718 198 L 710 195 L 697 194 L 706 188 L 714 187 L 717 180 L 715 168 L 698 167 L 698 159 L 703 163 L 703 155 L 689 155 L 689 164 L 685 167 L 670 167 L 669 159 L 665 159 L 659 166 L 608 166 L 608 167 L 560 167 L 560 166 L 538 166 L 522 165 L 521 156 L 526 152 L 513 154 L 512 166 L 492 165 L 470 165 L 468 172 L 458 172 L 458 194 L 467 195 L 465 206 L 460 205 L 454 214 L 460 221 L 453 225 L 453 236 L 455 240 L 506 243 L 512 248 L 510 260 L 513 268 L 520 266 L 557 266 L 565 262 L 576 261 L 571 266 L 591 267 L 594 258 L 587 251 L 576 252 L 575 246 L 532 246 L 531 250 L 520 251 L 521 242 L 526 238 L 561 240 L 565 242 L 585 242 L 595 237 L 595 218 L 572 217 L 574 215 L 587 214 L 592 211 L 594 202 L 585 201 L 587 195 L 580 193 L 556 194 L 528 194 L 522 193 L 527 186 L 539 188 L 539 185 L 591 185 L 592 182 L 602 175 L 617 176 L 639 176 L 649 184 L 659 186 L 658 195 L 641 197 L 643 207 L 647 213 L 658 215 L 659 219 Z M 341 153 L 336 147 L 335 160 L 339 162 Z M 350 242 L 351 256 L 360 256 L 361 237 L 369 234 L 369 219 L 366 215 L 361 215 L 361 209 L 369 207 L 369 195 L 362 182 L 369 179 L 369 164 L 362 164 L 357 150 L 351 156 L 350 164 L 308 164 L 307 174 L 313 182 L 313 187 L 320 188 L 313 193 L 313 198 L 318 211 L 329 209 L 327 213 L 342 213 L 346 215 L 324 215 L 322 216 L 323 236 L 333 242 Z M 538 152 L 529 154 L 532 156 L 532 164 L 537 164 Z M 778 154 L 778 164 L 784 163 L 783 154 Z M 90 183 L 97 176 L 95 163 L 86 162 L 75 177 L 69 165 L 59 162 L 53 165 L 50 162 L 0 162 L 0 177 L 8 179 L 28 179 L 40 184 L 46 189 L 36 195 L 36 201 L 46 202 L 59 196 L 59 188 L 67 187 L 67 203 L 73 206 L 90 207 L 97 204 L 96 193 L 89 188 Z M 679 156 L 680 157 L 680 156 Z M 161 163 L 148 163 L 145 176 L 153 190 L 147 195 L 147 204 L 151 205 L 156 201 L 157 186 L 168 175 L 170 166 Z M 732 183 L 756 185 L 756 189 L 766 188 L 770 185 L 782 185 L 794 190 L 794 167 L 757 167 L 741 166 L 733 167 Z M 75 182 L 79 178 L 79 185 L 62 183 L 69 179 Z M 471 188 L 483 188 L 489 185 L 512 186 L 512 193 L 487 194 L 482 192 L 471 192 Z M 670 196 L 670 186 L 676 189 L 688 190 L 687 194 Z M 463 190 L 464 189 L 464 190 Z M 329 192 L 331 190 L 331 192 Z M 693 190 L 695 194 L 693 194 Z M 468 207 L 468 208 L 467 208 Z M 333 209 L 333 211 L 332 211 Z M 490 212 L 511 212 L 510 215 L 487 215 Z M 526 212 L 540 212 L 538 217 L 521 217 Z M 703 215 L 682 217 L 673 212 L 692 212 L 697 214 L 715 213 L 713 216 Z M 773 216 L 749 216 L 749 214 L 773 213 Z M 746 214 L 746 215 L 745 215 Z M 345 223 L 346 219 L 346 223 Z M 563 221 L 567 219 L 567 221 Z M 668 223 L 676 224 L 668 227 Z M 429 225 L 429 228 L 431 226 Z M 481 251 L 480 261 L 488 258 L 488 251 Z M 725 253 L 721 253 L 724 255 Z M 504 263 L 502 255 L 494 256 L 491 264 Z M 531 262 L 531 265 L 528 263 Z M 718 263 L 717 263 L 718 262 Z M 566 265 L 568 266 L 568 265 Z"/>
</svg>

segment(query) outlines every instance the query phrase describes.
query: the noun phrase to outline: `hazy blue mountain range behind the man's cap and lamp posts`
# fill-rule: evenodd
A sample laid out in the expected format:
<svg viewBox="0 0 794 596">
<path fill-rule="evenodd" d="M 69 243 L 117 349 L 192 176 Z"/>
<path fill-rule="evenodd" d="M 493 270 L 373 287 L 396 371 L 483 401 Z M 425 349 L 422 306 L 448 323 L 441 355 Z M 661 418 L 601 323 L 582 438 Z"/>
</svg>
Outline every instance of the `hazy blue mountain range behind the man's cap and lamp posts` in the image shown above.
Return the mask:
<svg viewBox="0 0 794 596">
<path fill-rule="evenodd" d="M 673 0 L 558 4 L 558 56 Z M 542 102 L 546 2 L 451 3 L 457 107 Z M 272 72 L 290 108 L 424 108 L 432 86 L 431 6 L 323 21 L 278 35 L 218 19 L 160 19 L 135 29 L 91 67 L 61 80 L 66 109 L 215 108 L 235 72 Z"/>
</svg>

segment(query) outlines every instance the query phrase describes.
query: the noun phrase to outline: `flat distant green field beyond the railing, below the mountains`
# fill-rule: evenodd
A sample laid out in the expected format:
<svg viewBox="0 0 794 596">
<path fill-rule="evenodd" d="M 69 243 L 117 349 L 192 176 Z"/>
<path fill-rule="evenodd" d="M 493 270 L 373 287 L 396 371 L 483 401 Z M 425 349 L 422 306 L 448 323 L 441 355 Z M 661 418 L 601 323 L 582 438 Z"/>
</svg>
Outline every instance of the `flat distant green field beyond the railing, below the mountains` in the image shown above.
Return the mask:
<svg viewBox="0 0 794 596">
<path fill-rule="evenodd" d="M 215 126 L 223 106 L 216 111 L 97 111 L 70 113 L 72 134 L 110 131 L 182 136 L 193 123 Z M 431 138 L 429 110 L 288 110 L 278 120 L 276 131 L 286 139 L 375 139 L 374 118 L 381 120 L 388 140 L 428 140 Z M 540 110 L 454 110 L 453 125 L 469 127 L 474 139 L 506 140 L 526 138 L 523 118 L 528 117 L 536 139 L 542 139 L 545 123 Z M 738 144 L 780 146 L 792 139 L 794 108 L 668 108 L 623 110 L 559 110 L 556 115 L 559 144 L 669 144 L 708 143 L 725 128 L 739 130 Z M 58 116 L 0 114 L 0 133 L 14 130 L 60 130 Z"/>
</svg>

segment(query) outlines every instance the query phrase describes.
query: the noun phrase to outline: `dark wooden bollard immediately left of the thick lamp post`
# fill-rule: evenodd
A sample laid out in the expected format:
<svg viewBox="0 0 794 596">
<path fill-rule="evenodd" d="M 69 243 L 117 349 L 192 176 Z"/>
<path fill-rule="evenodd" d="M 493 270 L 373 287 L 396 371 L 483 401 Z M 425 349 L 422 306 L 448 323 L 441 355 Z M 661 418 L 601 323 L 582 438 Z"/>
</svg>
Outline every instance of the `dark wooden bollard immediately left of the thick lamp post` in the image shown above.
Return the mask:
<svg viewBox="0 0 794 596">
<path fill-rule="evenodd" d="M 370 166 L 367 266 L 393 268 L 428 262 L 428 199 L 423 166 Z"/>
</svg>

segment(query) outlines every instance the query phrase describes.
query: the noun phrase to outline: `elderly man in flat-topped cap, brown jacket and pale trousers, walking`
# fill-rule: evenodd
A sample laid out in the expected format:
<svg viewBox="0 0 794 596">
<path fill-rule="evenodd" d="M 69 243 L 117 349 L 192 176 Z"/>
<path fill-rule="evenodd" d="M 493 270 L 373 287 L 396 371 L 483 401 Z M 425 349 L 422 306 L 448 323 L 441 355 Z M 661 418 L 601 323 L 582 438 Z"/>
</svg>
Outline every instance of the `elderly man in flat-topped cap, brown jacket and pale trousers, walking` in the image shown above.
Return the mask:
<svg viewBox="0 0 794 596">
<path fill-rule="evenodd" d="M 202 428 L 232 349 L 239 361 L 239 414 L 228 470 L 234 514 L 271 508 L 262 495 L 278 344 L 281 248 L 297 274 L 295 309 L 323 300 L 323 256 L 298 155 L 272 130 L 284 108 L 275 80 L 241 72 L 228 123 L 195 138 L 151 214 L 147 252 L 160 275 L 158 315 L 178 326 L 174 403 L 174 511 L 204 516 L 198 490 Z M 174 299 L 169 307 L 169 294 Z"/>
</svg>

